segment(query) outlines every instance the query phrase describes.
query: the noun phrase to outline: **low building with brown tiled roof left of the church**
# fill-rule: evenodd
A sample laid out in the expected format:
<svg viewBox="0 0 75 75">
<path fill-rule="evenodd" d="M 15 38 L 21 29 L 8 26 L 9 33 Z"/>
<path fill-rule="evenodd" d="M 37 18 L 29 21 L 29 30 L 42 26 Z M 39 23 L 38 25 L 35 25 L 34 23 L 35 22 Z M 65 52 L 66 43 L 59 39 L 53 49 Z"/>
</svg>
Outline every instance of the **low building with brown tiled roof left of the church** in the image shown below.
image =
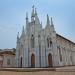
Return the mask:
<svg viewBox="0 0 75 75">
<path fill-rule="evenodd" d="M 15 52 L 13 49 L 0 49 L 0 68 L 15 67 Z"/>
</svg>

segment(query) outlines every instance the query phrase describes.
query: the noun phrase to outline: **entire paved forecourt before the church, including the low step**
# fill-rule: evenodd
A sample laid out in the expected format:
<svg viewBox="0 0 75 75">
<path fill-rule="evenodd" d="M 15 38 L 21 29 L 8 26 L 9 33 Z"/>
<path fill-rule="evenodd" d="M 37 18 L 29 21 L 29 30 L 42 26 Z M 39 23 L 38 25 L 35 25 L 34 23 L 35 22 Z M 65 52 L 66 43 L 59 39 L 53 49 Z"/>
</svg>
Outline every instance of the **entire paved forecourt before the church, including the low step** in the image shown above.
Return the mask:
<svg viewBox="0 0 75 75">
<path fill-rule="evenodd" d="M 17 69 L 17 68 L 15 68 Z M 5 71 L 7 70 L 7 71 Z M 0 75 L 75 75 L 75 66 L 71 67 L 61 67 L 61 68 L 36 68 L 36 69 L 25 69 L 25 68 L 19 68 L 17 70 L 32 70 L 30 72 L 26 71 L 13 71 L 12 68 L 10 68 L 10 71 L 8 71 L 9 68 L 4 69 L 3 71 L 0 69 Z"/>
</svg>

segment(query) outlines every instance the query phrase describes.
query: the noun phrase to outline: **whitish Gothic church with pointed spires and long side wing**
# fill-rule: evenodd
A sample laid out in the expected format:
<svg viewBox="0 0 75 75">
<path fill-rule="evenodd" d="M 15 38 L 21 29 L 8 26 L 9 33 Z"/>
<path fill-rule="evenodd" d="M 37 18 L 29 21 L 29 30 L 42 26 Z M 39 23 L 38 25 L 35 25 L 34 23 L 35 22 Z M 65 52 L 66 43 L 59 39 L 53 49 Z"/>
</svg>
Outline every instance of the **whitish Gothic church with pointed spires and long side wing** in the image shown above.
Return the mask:
<svg viewBox="0 0 75 75">
<path fill-rule="evenodd" d="M 52 18 L 42 28 L 36 9 L 31 22 L 26 13 L 26 27 L 17 35 L 16 67 L 57 67 L 75 65 L 75 43 L 56 33 Z"/>
</svg>

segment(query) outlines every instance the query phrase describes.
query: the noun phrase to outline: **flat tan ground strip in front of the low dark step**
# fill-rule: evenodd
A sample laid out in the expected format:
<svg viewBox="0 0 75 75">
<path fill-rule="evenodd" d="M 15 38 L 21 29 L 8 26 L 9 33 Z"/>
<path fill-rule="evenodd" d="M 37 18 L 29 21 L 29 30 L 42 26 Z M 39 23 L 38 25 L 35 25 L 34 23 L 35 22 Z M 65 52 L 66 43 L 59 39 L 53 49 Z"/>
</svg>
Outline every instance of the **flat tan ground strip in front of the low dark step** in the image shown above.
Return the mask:
<svg viewBox="0 0 75 75">
<path fill-rule="evenodd" d="M 75 72 L 54 72 L 54 71 L 11 72 L 11 71 L 0 71 L 0 75 L 75 75 Z"/>
</svg>

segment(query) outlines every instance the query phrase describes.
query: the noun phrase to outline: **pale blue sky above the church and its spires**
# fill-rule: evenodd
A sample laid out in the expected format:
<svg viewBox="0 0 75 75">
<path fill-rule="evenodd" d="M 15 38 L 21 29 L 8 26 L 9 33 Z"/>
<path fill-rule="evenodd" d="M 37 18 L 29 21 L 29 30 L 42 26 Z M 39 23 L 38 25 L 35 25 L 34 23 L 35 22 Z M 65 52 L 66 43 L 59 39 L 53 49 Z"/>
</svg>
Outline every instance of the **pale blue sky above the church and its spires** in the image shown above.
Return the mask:
<svg viewBox="0 0 75 75">
<path fill-rule="evenodd" d="M 0 0 L 0 48 L 15 48 L 18 31 L 29 19 L 32 6 L 37 8 L 43 27 L 46 15 L 53 17 L 57 33 L 75 42 L 75 0 Z"/>
</svg>

